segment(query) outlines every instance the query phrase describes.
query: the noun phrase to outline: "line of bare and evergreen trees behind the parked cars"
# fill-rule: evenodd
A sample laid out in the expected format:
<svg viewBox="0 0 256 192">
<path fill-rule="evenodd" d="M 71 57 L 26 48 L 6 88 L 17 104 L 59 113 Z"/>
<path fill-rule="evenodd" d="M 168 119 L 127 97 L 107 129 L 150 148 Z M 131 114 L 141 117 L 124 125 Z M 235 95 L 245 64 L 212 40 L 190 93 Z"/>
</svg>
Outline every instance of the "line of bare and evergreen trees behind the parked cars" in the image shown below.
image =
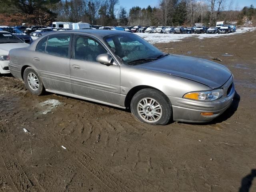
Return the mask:
<svg viewBox="0 0 256 192">
<path fill-rule="evenodd" d="M 49 25 L 53 21 L 101 26 L 214 26 L 216 21 L 255 20 L 253 5 L 242 10 L 226 0 L 160 0 L 157 7 L 126 10 L 119 0 L 0 0 L 0 24 Z"/>
</svg>

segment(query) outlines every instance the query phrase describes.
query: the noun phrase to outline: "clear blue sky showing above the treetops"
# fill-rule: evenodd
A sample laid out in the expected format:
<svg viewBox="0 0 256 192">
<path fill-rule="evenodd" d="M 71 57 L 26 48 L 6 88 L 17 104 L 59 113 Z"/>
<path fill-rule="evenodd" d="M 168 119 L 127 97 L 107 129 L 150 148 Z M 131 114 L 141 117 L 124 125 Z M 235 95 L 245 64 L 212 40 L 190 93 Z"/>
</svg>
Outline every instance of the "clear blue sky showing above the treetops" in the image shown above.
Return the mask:
<svg viewBox="0 0 256 192">
<path fill-rule="evenodd" d="M 256 7 L 256 0 L 227 0 L 227 4 L 229 4 L 230 1 L 233 1 L 233 7 L 234 9 L 237 7 L 238 10 L 241 10 L 244 6 L 250 6 L 251 4 L 254 5 L 254 8 Z M 129 10 L 133 6 L 139 6 L 141 8 L 146 8 L 148 5 L 154 7 L 158 6 L 160 0 L 119 0 L 119 5 L 126 10 Z"/>
</svg>

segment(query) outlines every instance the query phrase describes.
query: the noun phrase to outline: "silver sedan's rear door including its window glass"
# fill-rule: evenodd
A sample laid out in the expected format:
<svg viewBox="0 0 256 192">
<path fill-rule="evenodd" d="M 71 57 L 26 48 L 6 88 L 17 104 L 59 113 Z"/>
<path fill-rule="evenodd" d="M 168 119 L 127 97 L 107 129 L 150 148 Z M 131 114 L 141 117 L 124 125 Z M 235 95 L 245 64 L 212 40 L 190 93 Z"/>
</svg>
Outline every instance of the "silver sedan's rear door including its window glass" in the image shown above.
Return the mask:
<svg viewBox="0 0 256 192">
<path fill-rule="evenodd" d="M 72 92 L 70 82 L 70 50 L 72 34 L 46 36 L 36 46 L 33 57 L 46 89 Z"/>
</svg>

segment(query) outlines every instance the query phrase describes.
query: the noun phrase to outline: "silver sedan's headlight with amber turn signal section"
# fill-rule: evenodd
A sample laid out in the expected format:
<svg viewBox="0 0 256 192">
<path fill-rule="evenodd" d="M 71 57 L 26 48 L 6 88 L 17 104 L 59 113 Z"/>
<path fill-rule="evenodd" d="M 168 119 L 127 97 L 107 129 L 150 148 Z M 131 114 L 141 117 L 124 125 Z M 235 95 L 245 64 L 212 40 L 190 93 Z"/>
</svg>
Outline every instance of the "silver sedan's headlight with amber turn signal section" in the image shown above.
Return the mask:
<svg viewBox="0 0 256 192">
<path fill-rule="evenodd" d="M 199 100 L 199 101 L 215 101 L 221 98 L 222 95 L 223 95 L 223 89 L 216 89 L 212 91 L 190 92 L 185 94 L 183 98 Z"/>
</svg>

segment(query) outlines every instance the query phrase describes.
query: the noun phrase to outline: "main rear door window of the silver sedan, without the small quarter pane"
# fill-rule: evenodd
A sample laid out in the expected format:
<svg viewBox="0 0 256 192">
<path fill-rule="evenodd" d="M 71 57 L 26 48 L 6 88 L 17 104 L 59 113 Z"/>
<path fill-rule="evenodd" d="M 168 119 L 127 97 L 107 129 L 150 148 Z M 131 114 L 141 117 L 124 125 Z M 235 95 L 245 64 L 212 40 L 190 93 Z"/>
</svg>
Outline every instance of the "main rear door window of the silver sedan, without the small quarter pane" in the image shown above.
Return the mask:
<svg viewBox="0 0 256 192">
<path fill-rule="evenodd" d="M 70 34 L 57 34 L 49 36 L 45 52 L 53 56 L 68 58 L 70 36 Z"/>
</svg>

